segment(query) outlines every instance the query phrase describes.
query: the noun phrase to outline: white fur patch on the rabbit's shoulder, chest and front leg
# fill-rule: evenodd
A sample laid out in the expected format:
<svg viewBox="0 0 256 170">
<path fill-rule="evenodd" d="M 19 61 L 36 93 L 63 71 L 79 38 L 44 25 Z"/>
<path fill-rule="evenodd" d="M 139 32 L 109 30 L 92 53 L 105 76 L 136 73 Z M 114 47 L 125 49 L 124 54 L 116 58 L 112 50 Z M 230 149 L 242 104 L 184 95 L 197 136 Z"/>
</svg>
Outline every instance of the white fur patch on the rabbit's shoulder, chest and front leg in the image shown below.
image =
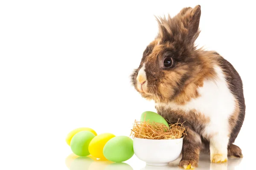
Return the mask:
<svg viewBox="0 0 256 170">
<path fill-rule="evenodd" d="M 211 155 L 223 154 L 222 159 L 226 159 L 229 140 L 228 119 L 235 111 L 236 99 L 228 88 L 221 68 L 215 66 L 215 72 L 217 78 L 205 80 L 203 87 L 198 88 L 200 97 L 191 99 L 185 105 L 177 105 L 174 102 L 160 105 L 173 110 L 183 110 L 186 113 L 196 110 L 209 118 L 210 122 L 201 135 L 210 140 Z"/>
</svg>

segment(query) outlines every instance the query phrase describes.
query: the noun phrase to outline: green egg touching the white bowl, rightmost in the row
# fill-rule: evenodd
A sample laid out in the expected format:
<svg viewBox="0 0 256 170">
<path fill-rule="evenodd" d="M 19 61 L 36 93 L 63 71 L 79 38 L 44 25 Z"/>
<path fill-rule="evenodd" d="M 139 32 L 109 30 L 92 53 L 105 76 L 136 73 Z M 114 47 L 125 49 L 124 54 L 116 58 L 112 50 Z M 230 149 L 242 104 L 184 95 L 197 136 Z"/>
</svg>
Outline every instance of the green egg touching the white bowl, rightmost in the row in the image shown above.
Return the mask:
<svg viewBox="0 0 256 170">
<path fill-rule="evenodd" d="M 103 154 L 113 162 L 126 161 L 134 155 L 133 140 L 128 136 L 116 136 L 105 144 Z"/>
</svg>

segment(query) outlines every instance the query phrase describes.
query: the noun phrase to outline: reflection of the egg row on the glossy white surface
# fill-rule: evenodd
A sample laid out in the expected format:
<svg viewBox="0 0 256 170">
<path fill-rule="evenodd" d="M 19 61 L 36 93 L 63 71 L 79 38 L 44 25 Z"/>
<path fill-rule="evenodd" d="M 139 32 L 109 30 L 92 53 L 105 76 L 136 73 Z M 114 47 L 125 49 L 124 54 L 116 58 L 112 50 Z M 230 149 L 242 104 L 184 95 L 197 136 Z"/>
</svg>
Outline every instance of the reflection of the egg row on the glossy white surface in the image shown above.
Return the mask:
<svg viewBox="0 0 256 170">
<path fill-rule="evenodd" d="M 114 163 L 111 161 L 96 159 L 93 156 L 78 157 L 70 154 L 66 158 L 66 165 L 70 170 L 133 170 L 126 163 Z"/>
</svg>

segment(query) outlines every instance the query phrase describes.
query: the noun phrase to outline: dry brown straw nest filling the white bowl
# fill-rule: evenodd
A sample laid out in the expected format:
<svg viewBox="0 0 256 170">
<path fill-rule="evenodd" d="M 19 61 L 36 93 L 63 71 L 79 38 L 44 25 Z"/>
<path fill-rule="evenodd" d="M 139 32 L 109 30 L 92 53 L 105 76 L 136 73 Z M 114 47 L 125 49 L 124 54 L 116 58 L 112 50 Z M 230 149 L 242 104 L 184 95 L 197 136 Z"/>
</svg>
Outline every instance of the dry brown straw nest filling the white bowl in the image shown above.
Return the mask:
<svg viewBox="0 0 256 170">
<path fill-rule="evenodd" d="M 179 139 L 186 135 L 186 128 L 182 123 L 170 124 L 166 127 L 158 122 L 134 122 L 131 136 L 142 139 Z"/>
</svg>

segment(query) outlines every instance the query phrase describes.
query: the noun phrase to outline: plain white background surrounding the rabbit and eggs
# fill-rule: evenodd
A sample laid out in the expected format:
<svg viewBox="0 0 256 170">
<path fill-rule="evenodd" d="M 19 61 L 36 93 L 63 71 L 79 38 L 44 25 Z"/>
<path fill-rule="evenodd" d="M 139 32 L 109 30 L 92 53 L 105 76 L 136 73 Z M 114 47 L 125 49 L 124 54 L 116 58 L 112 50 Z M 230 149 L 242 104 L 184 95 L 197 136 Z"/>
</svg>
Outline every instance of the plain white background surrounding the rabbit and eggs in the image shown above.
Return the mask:
<svg viewBox="0 0 256 170">
<path fill-rule="evenodd" d="M 247 111 L 235 144 L 244 154 L 237 164 L 250 167 L 256 118 L 252 2 L 1 0 L 1 169 L 67 170 L 64 160 L 72 152 L 65 137 L 77 127 L 129 136 L 143 111 L 155 111 L 129 78 L 157 34 L 154 15 L 173 16 L 197 4 L 198 45 L 223 55 L 244 82 Z M 136 157 L 127 163 L 145 167 Z"/>
</svg>

